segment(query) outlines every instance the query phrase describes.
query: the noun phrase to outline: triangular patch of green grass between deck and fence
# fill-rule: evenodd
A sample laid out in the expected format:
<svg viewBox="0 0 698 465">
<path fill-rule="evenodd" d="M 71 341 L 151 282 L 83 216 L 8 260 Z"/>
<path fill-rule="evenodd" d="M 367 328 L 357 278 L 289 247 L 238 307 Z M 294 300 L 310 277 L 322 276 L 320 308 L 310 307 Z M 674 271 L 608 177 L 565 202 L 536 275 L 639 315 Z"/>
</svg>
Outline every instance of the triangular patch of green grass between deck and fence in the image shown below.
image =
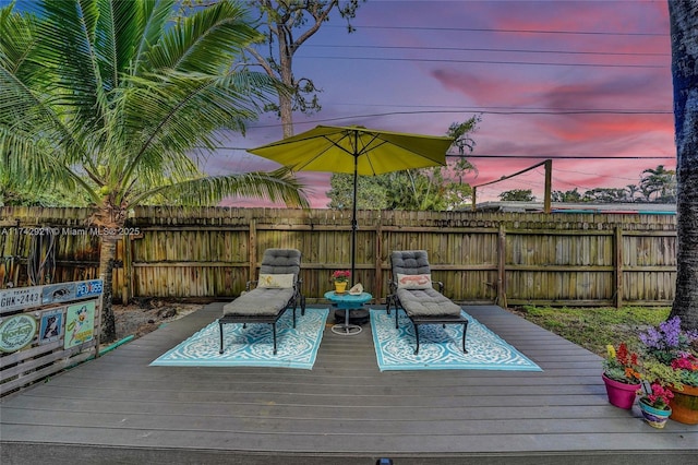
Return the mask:
<svg viewBox="0 0 698 465">
<path fill-rule="evenodd" d="M 638 331 L 666 320 L 669 307 L 553 308 L 524 306 L 509 311 L 602 357 L 606 345 L 637 341 Z"/>
</svg>

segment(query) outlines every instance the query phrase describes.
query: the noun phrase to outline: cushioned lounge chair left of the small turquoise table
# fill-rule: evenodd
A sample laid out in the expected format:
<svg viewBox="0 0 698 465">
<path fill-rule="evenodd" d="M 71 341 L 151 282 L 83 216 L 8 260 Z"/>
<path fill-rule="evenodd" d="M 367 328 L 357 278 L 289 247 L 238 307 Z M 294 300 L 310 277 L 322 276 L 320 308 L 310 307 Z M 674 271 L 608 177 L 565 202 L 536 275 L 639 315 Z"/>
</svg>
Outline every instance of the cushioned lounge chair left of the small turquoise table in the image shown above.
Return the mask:
<svg viewBox="0 0 698 465">
<path fill-rule="evenodd" d="M 301 252 L 299 250 L 267 249 L 264 251 L 258 279 L 249 282 L 246 291 L 222 308 L 222 317 L 218 319 L 220 354 L 224 353 L 224 324 L 269 323 L 274 333 L 274 354 L 276 355 L 276 323 L 279 318 L 287 309 L 293 309 L 293 327 L 296 327 L 296 308 L 299 305 L 301 315 L 305 314 L 305 297 L 300 290 L 300 272 Z M 252 288 L 255 284 L 256 287 Z"/>
</svg>

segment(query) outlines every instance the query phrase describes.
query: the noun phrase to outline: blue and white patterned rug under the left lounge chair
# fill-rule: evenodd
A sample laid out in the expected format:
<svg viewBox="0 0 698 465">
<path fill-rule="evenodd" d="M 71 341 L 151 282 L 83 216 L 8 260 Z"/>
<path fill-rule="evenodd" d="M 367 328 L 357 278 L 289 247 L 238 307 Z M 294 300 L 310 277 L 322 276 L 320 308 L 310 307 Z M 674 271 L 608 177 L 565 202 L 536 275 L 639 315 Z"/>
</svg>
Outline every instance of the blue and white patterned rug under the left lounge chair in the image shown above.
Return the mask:
<svg viewBox="0 0 698 465">
<path fill-rule="evenodd" d="M 151 366 L 177 367 L 284 367 L 311 370 L 325 330 L 328 309 L 306 308 L 301 317 L 287 310 L 276 323 L 277 353 L 270 324 L 224 324 L 224 353 L 218 354 L 218 321 L 159 356 Z"/>
</svg>

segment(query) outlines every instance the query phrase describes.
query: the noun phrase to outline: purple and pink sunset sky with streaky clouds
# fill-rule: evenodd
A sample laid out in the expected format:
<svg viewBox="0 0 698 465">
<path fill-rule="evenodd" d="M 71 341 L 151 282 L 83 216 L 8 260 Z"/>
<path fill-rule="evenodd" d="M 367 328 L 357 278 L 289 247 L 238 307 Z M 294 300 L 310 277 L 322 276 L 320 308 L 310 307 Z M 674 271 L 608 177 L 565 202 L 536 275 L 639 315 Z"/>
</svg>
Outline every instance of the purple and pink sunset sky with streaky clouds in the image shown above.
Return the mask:
<svg viewBox="0 0 698 465">
<path fill-rule="evenodd" d="M 665 1 L 370 0 L 352 24 L 347 34 L 334 17 L 297 53 L 296 76 L 323 90 L 322 111 L 297 115 L 297 133 L 363 124 L 443 135 L 481 114 L 472 186 L 545 158 L 561 191 L 638 184 L 643 169 L 676 166 Z M 205 169 L 273 169 L 244 148 L 281 136 L 276 118 L 264 116 Z M 623 156 L 646 159 L 610 158 Z M 299 177 L 312 206 L 326 207 L 329 174 Z M 543 179 L 538 168 L 482 188 L 478 201 L 510 189 L 532 189 L 542 201 Z"/>
</svg>

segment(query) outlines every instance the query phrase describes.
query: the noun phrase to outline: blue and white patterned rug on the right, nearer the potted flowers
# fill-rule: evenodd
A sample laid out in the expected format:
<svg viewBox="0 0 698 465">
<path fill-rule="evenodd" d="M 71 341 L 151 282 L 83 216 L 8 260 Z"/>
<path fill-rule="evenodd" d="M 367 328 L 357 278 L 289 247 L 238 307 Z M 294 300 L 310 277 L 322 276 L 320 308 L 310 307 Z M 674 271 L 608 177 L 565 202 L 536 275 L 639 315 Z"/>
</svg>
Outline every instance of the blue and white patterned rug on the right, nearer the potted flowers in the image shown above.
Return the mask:
<svg viewBox="0 0 698 465">
<path fill-rule="evenodd" d="M 373 345 L 378 368 L 385 370 L 521 370 L 542 371 L 524 354 L 494 334 L 478 320 L 468 318 L 466 348 L 462 353 L 462 325 L 422 324 L 419 354 L 414 355 L 414 329 L 404 311 L 395 329 L 395 313 L 371 310 Z"/>
</svg>

